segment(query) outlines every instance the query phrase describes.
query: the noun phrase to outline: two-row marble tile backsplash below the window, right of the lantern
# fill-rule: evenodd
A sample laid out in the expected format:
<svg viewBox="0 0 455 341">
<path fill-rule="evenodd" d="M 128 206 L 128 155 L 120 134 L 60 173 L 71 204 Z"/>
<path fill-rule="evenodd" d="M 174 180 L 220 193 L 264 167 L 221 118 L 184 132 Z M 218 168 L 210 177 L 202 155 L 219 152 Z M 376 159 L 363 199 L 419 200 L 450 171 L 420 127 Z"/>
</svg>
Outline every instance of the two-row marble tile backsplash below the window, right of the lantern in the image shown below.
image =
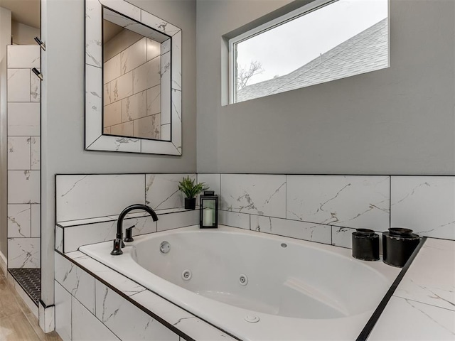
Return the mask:
<svg viewBox="0 0 455 341">
<path fill-rule="evenodd" d="M 198 174 L 220 195 L 220 223 L 351 247 L 355 228 L 407 227 L 455 239 L 455 177 Z"/>
</svg>

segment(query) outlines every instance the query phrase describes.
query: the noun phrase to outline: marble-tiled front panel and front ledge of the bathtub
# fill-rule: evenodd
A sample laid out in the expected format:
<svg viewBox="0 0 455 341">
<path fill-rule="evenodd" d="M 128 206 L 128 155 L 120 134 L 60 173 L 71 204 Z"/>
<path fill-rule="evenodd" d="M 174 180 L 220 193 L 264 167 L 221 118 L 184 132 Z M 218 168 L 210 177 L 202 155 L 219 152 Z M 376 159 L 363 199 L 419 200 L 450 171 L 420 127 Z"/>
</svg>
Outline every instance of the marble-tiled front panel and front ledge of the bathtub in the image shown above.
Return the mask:
<svg viewBox="0 0 455 341">
<path fill-rule="evenodd" d="M 55 330 L 73 341 L 234 340 L 80 251 L 55 252 Z"/>
</svg>

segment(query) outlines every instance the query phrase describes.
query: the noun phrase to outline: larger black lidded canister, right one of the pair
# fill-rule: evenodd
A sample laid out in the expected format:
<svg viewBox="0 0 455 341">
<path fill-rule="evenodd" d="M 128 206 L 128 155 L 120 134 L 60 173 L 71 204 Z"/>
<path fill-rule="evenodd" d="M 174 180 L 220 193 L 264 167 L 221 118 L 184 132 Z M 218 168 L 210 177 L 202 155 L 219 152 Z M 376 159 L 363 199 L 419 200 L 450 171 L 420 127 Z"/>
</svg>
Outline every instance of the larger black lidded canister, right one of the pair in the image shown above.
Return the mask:
<svg viewBox="0 0 455 341">
<path fill-rule="evenodd" d="M 402 268 L 419 242 L 420 237 L 412 233 L 412 229 L 391 227 L 389 232 L 382 233 L 382 260 L 385 264 Z"/>
</svg>

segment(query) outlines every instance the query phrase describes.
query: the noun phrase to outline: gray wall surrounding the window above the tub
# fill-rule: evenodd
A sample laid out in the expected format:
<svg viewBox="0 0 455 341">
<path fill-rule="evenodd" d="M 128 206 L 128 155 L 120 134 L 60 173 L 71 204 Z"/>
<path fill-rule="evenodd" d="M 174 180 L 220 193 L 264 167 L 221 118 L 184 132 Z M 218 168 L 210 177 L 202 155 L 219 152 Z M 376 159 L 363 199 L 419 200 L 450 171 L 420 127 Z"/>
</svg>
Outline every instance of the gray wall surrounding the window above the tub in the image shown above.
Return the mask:
<svg viewBox="0 0 455 341">
<path fill-rule="evenodd" d="M 198 0 L 198 172 L 454 175 L 453 0 L 390 1 L 390 68 L 221 106 L 220 37 L 289 2 Z"/>
</svg>

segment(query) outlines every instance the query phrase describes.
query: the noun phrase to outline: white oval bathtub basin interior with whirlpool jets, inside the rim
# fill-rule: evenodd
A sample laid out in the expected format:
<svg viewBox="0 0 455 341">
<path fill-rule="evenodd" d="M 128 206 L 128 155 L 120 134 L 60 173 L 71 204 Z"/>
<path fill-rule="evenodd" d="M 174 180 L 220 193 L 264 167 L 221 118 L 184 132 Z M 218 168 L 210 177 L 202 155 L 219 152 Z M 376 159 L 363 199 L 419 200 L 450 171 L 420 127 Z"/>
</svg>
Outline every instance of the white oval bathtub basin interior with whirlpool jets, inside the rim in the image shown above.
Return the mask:
<svg viewBox="0 0 455 341">
<path fill-rule="evenodd" d="M 168 253 L 160 251 L 165 241 Z M 157 233 L 132 249 L 139 266 L 176 286 L 289 318 L 365 313 L 375 309 L 391 284 L 374 267 L 350 257 L 350 250 L 331 251 L 333 247 L 289 238 L 283 243 L 283 238 L 238 229 Z"/>
</svg>

